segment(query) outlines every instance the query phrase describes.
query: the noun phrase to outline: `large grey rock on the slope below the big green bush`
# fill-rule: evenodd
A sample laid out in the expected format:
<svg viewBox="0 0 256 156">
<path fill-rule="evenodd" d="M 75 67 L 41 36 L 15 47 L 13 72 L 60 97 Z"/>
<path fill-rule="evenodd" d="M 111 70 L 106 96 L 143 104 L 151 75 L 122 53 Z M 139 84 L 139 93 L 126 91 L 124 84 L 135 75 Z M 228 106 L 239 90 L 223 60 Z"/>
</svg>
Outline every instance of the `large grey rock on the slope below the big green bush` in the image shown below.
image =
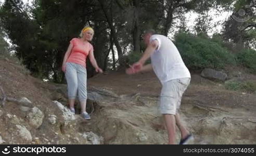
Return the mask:
<svg viewBox="0 0 256 156">
<path fill-rule="evenodd" d="M 215 79 L 225 81 L 227 79 L 227 74 L 221 71 L 216 71 L 210 68 L 206 68 L 201 72 L 202 77 L 206 77 L 208 79 Z"/>
</svg>

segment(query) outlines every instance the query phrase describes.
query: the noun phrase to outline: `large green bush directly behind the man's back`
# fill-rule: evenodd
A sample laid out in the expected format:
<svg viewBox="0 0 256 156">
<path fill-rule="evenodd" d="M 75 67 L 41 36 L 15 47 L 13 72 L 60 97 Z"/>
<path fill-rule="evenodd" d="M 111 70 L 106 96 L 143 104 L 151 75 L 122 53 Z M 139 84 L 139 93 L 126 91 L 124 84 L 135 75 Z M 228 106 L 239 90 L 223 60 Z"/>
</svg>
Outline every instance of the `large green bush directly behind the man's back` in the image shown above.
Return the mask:
<svg viewBox="0 0 256 156">
<path fill-rule="evenodd" d="M 192 70 L 223 69 L 227 64 L 236 64 L 236 57 L 216 37 L 212 39 L 180 31 L 175 35 L 175 45 L 186 66 Z"/>
</svg>

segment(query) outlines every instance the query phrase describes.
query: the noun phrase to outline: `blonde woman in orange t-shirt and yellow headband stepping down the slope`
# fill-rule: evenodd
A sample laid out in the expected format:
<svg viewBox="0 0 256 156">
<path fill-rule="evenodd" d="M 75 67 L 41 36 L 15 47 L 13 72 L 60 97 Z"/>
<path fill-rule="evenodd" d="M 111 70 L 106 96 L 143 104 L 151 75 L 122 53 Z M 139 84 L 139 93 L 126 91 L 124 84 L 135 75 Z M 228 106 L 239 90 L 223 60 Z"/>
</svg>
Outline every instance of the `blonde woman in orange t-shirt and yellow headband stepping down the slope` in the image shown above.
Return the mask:
<svg viewBox="0 0 256 156">
<path fill-rule="evenodd" d="M 91 27 L 85 27 L 80 34 L 81 38 L 73 38 L 70 41 L 68 50 L 62 63 L 62 71 L 65 72 L 68 84 L 68 101 L 70 111 L 75 113 L 74 102 L 76 92 L 78 92 L 79 101 L 81 104 L 81 114 L 84 119 L 89 120 L 91 116 L 86 112 L 87 100 L 87 72 L 86 58 L 89 57 L 96 72 L 103 71 L 98 67 L 94 58 L 93 46 L 89 43 L 92 41 L 94 30 Z"/>
</svg>

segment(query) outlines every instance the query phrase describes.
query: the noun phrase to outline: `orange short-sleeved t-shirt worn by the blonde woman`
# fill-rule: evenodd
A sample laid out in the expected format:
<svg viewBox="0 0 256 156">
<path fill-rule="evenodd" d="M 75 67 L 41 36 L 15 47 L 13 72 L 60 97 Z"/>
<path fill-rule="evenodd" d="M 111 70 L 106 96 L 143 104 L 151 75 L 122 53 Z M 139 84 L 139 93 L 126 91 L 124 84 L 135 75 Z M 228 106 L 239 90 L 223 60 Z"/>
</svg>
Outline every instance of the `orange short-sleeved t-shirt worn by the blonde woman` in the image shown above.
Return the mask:
<svg viewBox="0 0 256 156">
<path fill-rule="evenodd" d="M 73 48 L 66 62 L 73 62 L 86 67 L 86 57 L 89 51 L 93 49 L 92 44 L 84 43 L 79 38 L 73 38 L 70 43 L 73 44 Z"/>
</svg>

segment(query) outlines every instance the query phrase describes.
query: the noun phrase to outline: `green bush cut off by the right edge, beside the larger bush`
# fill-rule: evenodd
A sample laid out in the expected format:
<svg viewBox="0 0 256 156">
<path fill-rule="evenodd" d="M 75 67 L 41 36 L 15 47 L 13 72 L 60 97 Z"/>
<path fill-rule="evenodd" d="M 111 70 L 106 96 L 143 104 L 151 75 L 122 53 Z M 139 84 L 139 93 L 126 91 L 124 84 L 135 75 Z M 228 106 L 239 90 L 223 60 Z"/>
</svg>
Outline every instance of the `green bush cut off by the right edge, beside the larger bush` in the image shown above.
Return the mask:
<svg viewBox="0 0 256 156">
<path fill-rule="evenodd" d="M 256 51 L 252 49 L 242 50 L 241 53 L 237 55 L 238 62 L 242 66 L 250 69 L 252 73 L 256 73 Z"/>
</svg>

